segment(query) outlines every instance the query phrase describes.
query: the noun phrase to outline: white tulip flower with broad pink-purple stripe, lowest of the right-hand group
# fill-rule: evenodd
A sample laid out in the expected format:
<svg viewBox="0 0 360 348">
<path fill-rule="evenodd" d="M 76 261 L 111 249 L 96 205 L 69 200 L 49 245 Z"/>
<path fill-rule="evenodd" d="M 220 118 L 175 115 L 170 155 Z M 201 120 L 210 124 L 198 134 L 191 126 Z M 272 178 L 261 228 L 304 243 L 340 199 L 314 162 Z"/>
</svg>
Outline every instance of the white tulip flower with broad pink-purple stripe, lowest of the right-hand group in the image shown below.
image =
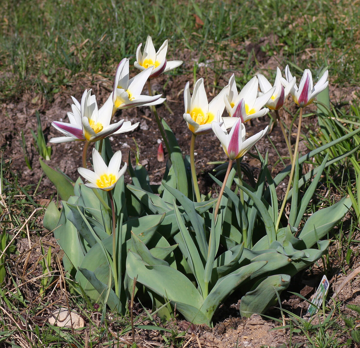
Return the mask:
<svg viewBox="0 0 360 348">
<path fill-rule="evenodd" d="M 217 138 L 220 140 L 222 148 L 225 151 L 226 156 L 230 160 L 236 160 L 246 154 L 252 146 L 254 146 L 265 134 L 268 126 L 261 130 L 261 132 L 247 138 L 245 140 L 246 130 L 241 119 L 238 118 L 230 130 L 222 129 L 221 125 L 217 122 L 211 123 L 211 128 Z"/>
</svg>

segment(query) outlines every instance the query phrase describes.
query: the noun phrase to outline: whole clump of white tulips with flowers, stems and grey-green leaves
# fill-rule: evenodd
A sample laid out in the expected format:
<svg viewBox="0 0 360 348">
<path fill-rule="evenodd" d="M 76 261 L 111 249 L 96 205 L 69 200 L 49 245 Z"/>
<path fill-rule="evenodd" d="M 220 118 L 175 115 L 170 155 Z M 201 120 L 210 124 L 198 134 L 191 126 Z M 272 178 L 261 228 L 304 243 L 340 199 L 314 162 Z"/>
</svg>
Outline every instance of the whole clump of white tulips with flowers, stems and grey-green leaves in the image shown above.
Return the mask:
<svg viewBox="0 0 360 348">
<path fill-rule="evenodd" d="M 124 58 L 115 73 L 113 92 L 102 107 L 98 108 L 91 90 L 85 90 L 80 102 L 73 98 L 69 123 L 53 122 L 63 136 L 50 142 L 75 140 L 83 148 L 78 169 L 83 179 L 75 183 L 42 162 L 63 199 L 61 211 L 50 204 L 44 226 L 54 230 L 64 251 L 67 276 L 76 280 L 79 293 L 120 313 L 125 313 L 133 287 L 139 300 L 150 299 L 161 315 L 170 316 L 176 308 L 195 324 L 211 325 L 217 307 L 235 290 L 242 316 L 263 313 L 294 274 L 327 253 L 329 240 L 323 237 L 346 214 L 350 198 L 312 212 L 305 221 L 303 217 L 324 168 L 348 155 L 329 161 L 327 151 L 358 131 L 309 154 L 298 154 L 303 109 L 327 87 L 328 71 L 313 86 L 310 70 L 304 71 L 297 85 L 288 66 L 285 78 L 278 68 L 274 85 L 259 74 L 241 91 L 233 74 L 210 102 L 200 78 L 192 92 L 189 82 L 184 88 L 183 117 L 192 134 L 190 156 L 184 157 L 175 134 L 156 112 L 155 106 L 165 99 L 154 96 L 151 88 L 152 78 L 182 62 L 166 60 L 167 41 L 156 52 L 148 37 L 142 54 L 140 49 L 141 44 L 134 64 L 140 73 L 130 79 L 129 60 Z M 145 83 L 148 95 L 141 94 Z M 300 108 L 293 149 L 278 111 L 290 94 Z M 139 105 L 152 107 L 168 152 L 160 185 L 151 185 L 147 170 L 133 165 L 130 157 L 124 164 L 108 138 L 138 126 L 112 122 L 112 116 L 117 109 Z M 258 152 L 261 171 L 256 183 L 247 173 L 253 183 L 248 184 L 242 180 L 243 156 L 268 127 L 248 137 L 250 126 L 245 122 L 270 110 L 284 133 L 291 164 L 272 177 L 267 153 Z M 217 198 L 202 194 L 196 177 L 195 140 L 209 133 L 215 133 L 227 160 L 216 168 L 225 172 L 224 181 L 212 176 L 220 188 Z M 95 143 L 93 170 L 87 168 L 91 142 Z M 319 153 L 324 154 L 322 164 L 303 174 L 303 163 Z M 125 171 L 131 183 L 125 182 Z M 280 199 L 276 187 L 283 180 L 288 184 Z"/>
</svg>

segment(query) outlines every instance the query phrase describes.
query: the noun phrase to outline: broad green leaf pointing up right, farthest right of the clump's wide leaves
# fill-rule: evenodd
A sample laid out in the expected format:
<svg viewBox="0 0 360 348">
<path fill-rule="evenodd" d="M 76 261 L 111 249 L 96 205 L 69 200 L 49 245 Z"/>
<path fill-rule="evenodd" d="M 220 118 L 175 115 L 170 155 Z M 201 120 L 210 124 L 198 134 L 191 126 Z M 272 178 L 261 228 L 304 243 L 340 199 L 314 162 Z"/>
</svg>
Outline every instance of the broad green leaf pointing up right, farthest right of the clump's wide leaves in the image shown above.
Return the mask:
<svg viewBox="0 0 360 348">
<path fill-rule="evenodd" d="M 338 221 L 345 216 L 350 207 L 351 199 L 347 196 L 330 207 L 316 211 L 307 219 L 298 238 L 303 240 L 307 248 L 311 248 L 337 225 Z"/>
</svg>

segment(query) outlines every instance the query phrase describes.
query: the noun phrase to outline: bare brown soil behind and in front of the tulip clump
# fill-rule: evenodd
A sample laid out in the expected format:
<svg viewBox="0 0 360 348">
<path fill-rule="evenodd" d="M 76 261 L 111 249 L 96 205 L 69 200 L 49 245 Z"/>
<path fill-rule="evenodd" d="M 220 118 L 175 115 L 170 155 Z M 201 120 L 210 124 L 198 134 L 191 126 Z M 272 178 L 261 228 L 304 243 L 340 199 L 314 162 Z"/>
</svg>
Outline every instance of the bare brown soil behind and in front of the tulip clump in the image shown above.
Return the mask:
<svg viewBox="0 0 360 348">
<path fill-rule="evenodd" d="M 184 60 L 189 57 L 184 56 Z M 181 57 L 179 59 L 182 59 Z M 267 65 L 271 65 L 271 61 L 266 62 Z M 276 65 L 275 65 L 276 67 Z M 191 71 L 191 65 L 185 65 Z M 207 74 L 208 79 L 206 81 L 207 91 L 209 99 L 214 97 L 219 90 L 214 89 L 213 81 L 214 74 L 211 73 L 211 69 L 206 70 L 206 67 L 198 69 L 198 76 Z M 225 86 L 231 73 L 225 74 L 224 77 L 217 80 L 219 86 Z M 192 81 L 192 74 L 187 76 L 169 76 L 162 75 L 161 77 L 153 81 L 153 90 L 163 93 L 167 98 L 166 104 L 157 107 L 159 115 L 166 120 L 174 131 L 176 138 L 180 144 L 183 154 L 189 153 L 189 142 L 190 142 L 190 131 L 186 126 L 183 119 L 184 104 L 183 104 L 183 88 L 187 81 Z M 163 87 L 165 86 L 165 87 Z M 33 145 L 33 139 L 30 130 L 36 129 L 36 118 L 35 112 L 39 111 L 41 114 L 42 129 L 45 137 L 49 140 L 51 137 L 60 136 L 60 134 L 51 127 L 51 122 L 54 120 L 67 121 L 67 111 L 71 110 L 71 95 L 77 99 L 81 98 L 82 92 L 85 88 L 92 88 L 93 93 L 96 95 L 99 105 L 107 99 L 109 92 L 112 89 L 112 81 L 103 78 L 101 75 L 92 76 L 81 76 L 78 79 L 76 85 L 67 88 L 57 95 L 54 96 L 51 101 L 44 99 L 42 95 L 37 95 L 33 92 L 27 92 L 20 96 L 18 100 L 6 102 L 1 107 L 1 123 L 2 132 L 0 133 L 0 148 L 3 149 L 3 156 L 5 161 L 11 161 L 10 169 L 17 173 L 18 181 L 21 186 L 32 185 L 35 189 L 36 185 L 40 182 L 39 189 L 35 196 L 35 200 L 38 203 L 44 203 L 53 199 L 56 196 L 55 188 L 51 184 L 50 180 L 43 177 L 42 170 L 38 160 L 38 154 L 35 151 Z M 349 95 L 349 91 L 347 91 Z M 334 99 L 338 96 L 333 95 Z M 293 112 L 296 111 L 290 104 L 288 108 Z M 281 115 L 284 119 L 285 124 L 291 123 L 291 118 L 284 112 Z M 139 107 L 129 110 L 119 111 L 116 116 L 116 120 L 125 119 L 132 123 L 140 122 L 140 126 L 132 133 L 121 134 L 120 136 L 114 136 L 112 140 L 114 150 L 121 150 L 123 153 L 123 159 L 127 160 L 127 156 L 130 153 L 132 158 L 132 165 L 135 165 L 134 154 L 136 151 L 136 144 L 140 150 L 140 163 L 145 165 L 149 171 L 149 177 L 151 183 L 159 183 L 162 179 L 162 175 L 165 171 L 166 162 L 158 162 L 157 160 L 157 148 L 158 139 L 161 139 L 161 135 L 157 129 L 156 122 L 150 113 L 149 108 Z M 316 127 L 315 119 L 307 119 L 309 124 L 314 123 Z M 264 129 L 269 124 L 269 116 L 253 120 L 252 124 L 247 125 L 247 132 L 252 135 L 261 129 Z M 30 154 L 32 169 L 26 167 L 24 161 L 23 148 L 21 146 L 21 132 L 24 132 L 26 139 L 27 151 Z M 293 133 L 296 132 L 296 127 Z M 276 150 L 280 156 L 287 155 L 287 147 L 283 140 L 282 133 L 278 125 L 275 125 L 272 132 L 269 135 L 271 141 L 276 146 Z M 265 154 L 269 151 L 269 163 L 272 166 L 274 174 L 283 168 L 283 165 L 276 164 L 279 155 L 276 153 L 275 148 L 271 145 L 269 139 L 263 138 L 257 145 L 259 151 Z M 306 149 L 305 144 L 302 144 L 302 150 Z M 79 142 L 62 143 L 52 146 L 51 160 L 48 161 L 50 166 L 59 168 L 64 173 L 69 175 L 72 179 L 76 180 L 78 177 L 77 168 L 81 166 L 81 144 Z M 215 192 L 217 189 L 212 183 L 208 173 L 214 168 L 213 165 L 208 165 L 209 161 L 226 160 L 225 154 L 222 151 L 220 142 L 217 140 L 215 135 L 208 134 L 206 136 L 198 136 L 196 140 L 196 155 L 195 161 L 198 172 L 198 180 L 202 193 L 207 193 L 210 190 Z M 89 152 L 90 153 L 90 152 Z M 166 160 L 166 154 L 165 154 Z M 244 158 L 249 166 L 253 169 L 255 178 L 259 169 L 259 162 L 253 159 L 251 156 Z M 284 188 L 285 189 L 285 188 Z M 215 194 L 215 193 L 214 193 Z M 280 193 L 281 194 L 281 193 Z M 346 233 L 346 231 L 345 231 Z M 39 242 L 39 238 L 46 245 L 51 245 L 54 248 L 54 252 L 58 251 L 56 241 L 49 234 L 44 237 L 46 232 L 41 234 L 40 237 L 33 234 L 31 235 L 32 244 Z M 353 239 L 358 239 L 358 236 L 353 236 Z M 45 239 L 44 239 L 45 238 Z M 39 246 L 37 248 L 31 248 L 29 246 L 28 238 L 21 239 L 18 241 L 18 253 L 22 255 L 23 262 L 18 262 L 19 274 L 28 268 L 36 265 L 37 255 L 39 255 Z M 31 251 L 30 251 L 31 249 Z M 359 252 L 354 247 L 354 255 L 358 255 Z M 29 255 L 29 257 L 27 256 Z M 332 260 L 337 260 L 344 257 L 342 251 L 337 250 L 337 246 L 333 245 L 330 249 L 330 257 L 333 255 Z M 15 258 L 15 256 L 14 256 Z M 19 256 L 17 256 L 19 258 Z M 24 261 L 26 258 L 26 262 Z M 340 261 L 334 261 L 334 264 L 328 269 L 328 279 L 331 282 L 330 295 L 334 292 L 334 289 L 342 282 L 345 278 L 346 273 L 349 269 L 340 269 Z M 356 268 L 360 264 L 359 257 L 355 257 L 352 260 L 349 268 Z M 25 267 L 25 268 L 23 268 Z M 56 267 L 56 265 L 54 265 Z M 34 270 L 34 276 L 36 272 Z M 291 287 L 289 288 L 292 292 L 301 293 L 306 298 L 310 298 L 316 290 L 317 285 L 324 274 L 324 267 L 321 262 L 318 266 L 314 266 L 311 270 L 306 270 L 296 275 L 293 280 Z M 29 296 L 36 293 L 38 288 L 35 286 L 30 291 Z M 57 290 L 60 291 L 60 290 Z M 346 311 L 346 304 L 354 303 L 360 304 L 359 297 L 359 282 L 354 281 L 353 283 L 347 284 L 343 291 L 339 295 L 339 300 L 344 301 L 340 310 Z M 33 293 L 32 293 L 33 292 Z M 57 292 L 54 292 L 54 296 Z M 55 296 L 56 297 L 56 296 Z M 53 299 L 54 306 L 57 303 L 62 303 L 64 300 L 59 301 L 59 297 Z M 298 315 L 304 313 L 307 309 L 307 302 L 299 298 L 296 295 L 292 295 L 289 292 L 282 294 L 282 306 L 283 308 L 290 310 Z M 275 308 L 271 309 L 270 316 L 276 317 L 279 320 L 283 320 L 279 310 Z M 189 327 L 189 323 L 186 323 L 179 318 L 173 324 L 180 331 L 187 331 L 185 336 L 184 347 L 260 347 L 262 345 L 274 346 L 274 347 L 287 347 L 289 342 L 289 330 L 278 329 L 271 330 L 275 327 L 282 326 L 278 322 L 270 319 L 264 319 L 259 315 L 253 315 L 249 319 L 241 319 L 239 316 L 239 298 L 234 293 L 226 303 L 222 304 L 215 316 L 215 327 L 208 328 L 205 326 L 196 327 L 194 325 Z M 339 323 L 342 325 L 342 323 Z M 345 342 L 347 337 L 338 337 L 340 342 Z M 124 336 L 122 342 L 131 342 L 130 335 Z M 136 333 L 136 340 L 139 347 L 156 347 L 161 346 L 161 336 L 155 331 L 140 331 Z M 301 334 L 292 337 L 293 342 L 304 343 L 306 342 L 305 337 Z"/>
</svg>

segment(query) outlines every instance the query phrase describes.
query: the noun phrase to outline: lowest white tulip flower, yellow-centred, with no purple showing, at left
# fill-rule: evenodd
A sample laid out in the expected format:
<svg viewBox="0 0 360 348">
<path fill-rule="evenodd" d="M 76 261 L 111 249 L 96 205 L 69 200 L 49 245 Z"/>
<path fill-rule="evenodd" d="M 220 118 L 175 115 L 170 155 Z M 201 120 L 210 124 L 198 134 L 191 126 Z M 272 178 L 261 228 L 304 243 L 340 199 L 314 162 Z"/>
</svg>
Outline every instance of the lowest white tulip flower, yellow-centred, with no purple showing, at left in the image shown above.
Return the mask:
<svg viewBox="0 0 360 348">
<path fill-rule="evenodd" d="M 79 174 L 89 183 L 85 186 L 90 188 L 100 188 L 104 191 L 110 191 L 117 180 L 125 173 L 127 164 L 120 169 L 121 151 L 117 151 L 111 157 L 109 166 L 107 166 L 101 155 L 95 148 L 93 149 L 93 167 L 94 171 L 86 168 L 78 168 Z"/>
</svg>

